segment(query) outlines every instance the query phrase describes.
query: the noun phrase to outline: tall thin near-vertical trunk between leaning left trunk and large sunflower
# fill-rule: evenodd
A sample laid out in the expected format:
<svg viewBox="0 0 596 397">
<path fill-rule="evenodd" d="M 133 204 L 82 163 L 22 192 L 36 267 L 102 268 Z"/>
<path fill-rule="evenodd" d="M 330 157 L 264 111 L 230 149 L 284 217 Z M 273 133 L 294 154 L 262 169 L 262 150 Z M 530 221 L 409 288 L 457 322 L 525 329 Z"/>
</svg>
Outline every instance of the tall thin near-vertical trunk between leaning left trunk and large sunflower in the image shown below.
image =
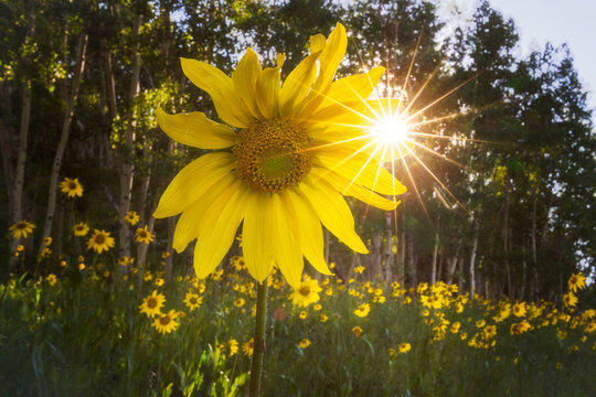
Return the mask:
<svg viewBox="0 0 596 397">
<path fill-rule="evenodd" d="M 139 54 L 139 33 L 140 33 L 141 15 L 135 17 L 135 25 L 132 28 L 132 40 L 135 42 L 135 54 L 132 64 L 132 78 L 130 79 L 129 99 L 132 101 L 140 90 L 139 73 L 140 73 L 140 54 Z M 124 144 L 120 148 L 120 200 L 118 205 L 118 248 L 120 257 L 130 256 L 130 240 L 128 224 L 125 221 L 126 214 L 130 211 L 130 200 L 132 197 L 132 182 L 135 178 L 135 106 L 131 105 L 128 110 L 126 132 Z"/>
</svg>

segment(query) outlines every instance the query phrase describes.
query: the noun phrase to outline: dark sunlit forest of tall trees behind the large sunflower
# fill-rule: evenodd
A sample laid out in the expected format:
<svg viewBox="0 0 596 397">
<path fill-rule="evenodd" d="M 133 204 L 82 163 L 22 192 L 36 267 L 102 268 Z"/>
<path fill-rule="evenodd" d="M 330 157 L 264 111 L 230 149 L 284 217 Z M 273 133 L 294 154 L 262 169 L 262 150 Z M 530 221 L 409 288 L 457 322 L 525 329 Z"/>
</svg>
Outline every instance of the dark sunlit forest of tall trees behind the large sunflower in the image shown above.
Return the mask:
<svg viewBox="0 0 596 397">
<path fill-rule="evenodd" d="M 369 255 L 326 235 L 338 277 L 363 265 L 366 277 L 387 283 L 444 280 L 487 298 L 553 302 L 572 273 L 594 277 L 596 139 L 586 93 L 566 46 L 517 57 L 514 22 L 488 1 L 469 26 L 439 39 L 432 1 L 4 0 L 0 278 L 58 268 L 62 247 L 78 244 L 71 242 L 77 222 L 117 236 L 106 254 L 115 261 L 136 249 L 138 264 L 160 262 L 172 251 L 175 219 L 151 214 L 200 152 L 162 133 L 153 111 L 215 115 L 179 58 L 230 73 L 251 46 L 265 65 L 286 53 L 287 73 L 308 37 L 338 21 L 349 34 L 339 75 L 385 66 L 379 95 L 400 96 L 407 81 L 413 111 L 432 105 L 418 132 L 438 136 L 418 139 L 430 149 L 416 150 L 421 161 L 395 162 L 408 187 L 395 213 L 350 202 Z M 64 178 L 81 181 L 83 197 L 58 193 Z M 129 211 L 153 244 L 131 245 Z M 8 230 L 22 219 L 38 227 L 19 242 Z M 49 236 L 53 253 L 40 266 Z M 18 244 L 24 261 L 10 259 Z M 192 271 L 190 258 L 191 248 L 166 257 L 166 279 L 174 267 Z M 583 303 L 593 307 L 594 297 Z"/>
</svg>

